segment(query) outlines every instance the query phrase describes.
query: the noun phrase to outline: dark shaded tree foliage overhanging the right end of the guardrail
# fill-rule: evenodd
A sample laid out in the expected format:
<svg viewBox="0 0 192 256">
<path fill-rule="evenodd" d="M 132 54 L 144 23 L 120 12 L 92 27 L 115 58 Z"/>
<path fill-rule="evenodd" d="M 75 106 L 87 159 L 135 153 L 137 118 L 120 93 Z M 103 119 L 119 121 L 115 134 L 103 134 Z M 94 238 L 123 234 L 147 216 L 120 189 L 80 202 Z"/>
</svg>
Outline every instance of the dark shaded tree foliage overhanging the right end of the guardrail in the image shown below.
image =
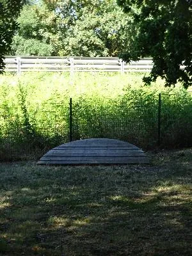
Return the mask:
<svg viewBox="0 0 192 256">
<path fill-rule="evenodd" d="M 122 58 L 139 60 L 151 56 L 154 67 L 150 84 L 160 76 L 166 86 L 180 81 L 185 88 L 192 83 L 192 13 L 191 0 L 117 0 L 132 16 L 136 33 Z"/>
</svg>

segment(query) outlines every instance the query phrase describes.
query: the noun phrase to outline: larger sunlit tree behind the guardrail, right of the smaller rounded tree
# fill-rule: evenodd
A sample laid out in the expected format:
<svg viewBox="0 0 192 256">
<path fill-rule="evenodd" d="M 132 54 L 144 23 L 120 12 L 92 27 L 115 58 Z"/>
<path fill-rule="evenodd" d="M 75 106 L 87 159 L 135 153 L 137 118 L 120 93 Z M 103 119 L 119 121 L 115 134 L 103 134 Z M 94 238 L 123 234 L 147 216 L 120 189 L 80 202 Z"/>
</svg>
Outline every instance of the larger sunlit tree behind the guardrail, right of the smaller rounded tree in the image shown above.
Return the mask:
<svg viewBox="0 0 192 256">
<path fill-rule="evenodd" d="M 116 0 L 44 2 L 60 13 L 60 55 L 116 56 L 124 49 L 131 22 Z"/>
</svg>

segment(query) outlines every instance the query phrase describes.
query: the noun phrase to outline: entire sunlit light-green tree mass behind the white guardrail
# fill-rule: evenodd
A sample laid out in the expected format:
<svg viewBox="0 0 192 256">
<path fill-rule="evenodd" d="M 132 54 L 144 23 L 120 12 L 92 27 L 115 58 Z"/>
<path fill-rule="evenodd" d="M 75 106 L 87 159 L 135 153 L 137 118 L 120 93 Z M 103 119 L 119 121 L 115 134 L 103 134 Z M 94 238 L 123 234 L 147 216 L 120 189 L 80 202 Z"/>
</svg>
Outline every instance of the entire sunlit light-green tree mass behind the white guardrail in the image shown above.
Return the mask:
<svg viewBox="0 0 192 256">
<path fill-rule="evenodd" d="M 18 22 L 12 54 L 55 56 L 116 56 L 131 24 L 115 0 L 38 1 L 24 6 Z"/>
</svg>

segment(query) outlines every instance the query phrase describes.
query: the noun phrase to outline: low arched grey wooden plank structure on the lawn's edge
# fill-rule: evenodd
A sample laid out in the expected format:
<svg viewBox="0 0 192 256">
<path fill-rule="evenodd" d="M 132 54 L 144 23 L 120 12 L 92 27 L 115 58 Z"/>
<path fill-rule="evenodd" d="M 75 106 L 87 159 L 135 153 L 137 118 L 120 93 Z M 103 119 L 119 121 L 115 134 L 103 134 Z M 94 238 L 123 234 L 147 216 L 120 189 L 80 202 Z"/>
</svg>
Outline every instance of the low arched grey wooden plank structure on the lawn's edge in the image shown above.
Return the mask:
<svg viewBox="0 0 192 256">
<path fill-rule="evenodd" d="M 107 138 L 77 140 L 52 148 L 38 164 L 148 164 L 143 150 Z"/>
</svg>

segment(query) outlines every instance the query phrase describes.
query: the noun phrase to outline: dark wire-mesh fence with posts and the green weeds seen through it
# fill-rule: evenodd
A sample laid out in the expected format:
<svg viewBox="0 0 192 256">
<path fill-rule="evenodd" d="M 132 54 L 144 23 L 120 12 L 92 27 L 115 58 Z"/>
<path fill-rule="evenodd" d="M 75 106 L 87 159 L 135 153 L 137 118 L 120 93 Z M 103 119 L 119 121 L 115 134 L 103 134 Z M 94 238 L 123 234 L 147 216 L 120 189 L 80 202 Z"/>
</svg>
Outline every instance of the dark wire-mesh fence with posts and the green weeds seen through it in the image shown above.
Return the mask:
<svg viewBox="0 0 192 256">
<path fill-rule="evenodd" d="M 190 147 L 191 104 L 176 104 L 172 97 L 161 95 L 159 101 L 153 95 L 131 104 L 125 94 L 115 100 L 48 100 L 33 108 L 24 102 L 19 108 L 1 106 L 0 159 L 36 158 L 56 145 L 84 138 L 117 138 L 144 149 Z"/>
</svg>

